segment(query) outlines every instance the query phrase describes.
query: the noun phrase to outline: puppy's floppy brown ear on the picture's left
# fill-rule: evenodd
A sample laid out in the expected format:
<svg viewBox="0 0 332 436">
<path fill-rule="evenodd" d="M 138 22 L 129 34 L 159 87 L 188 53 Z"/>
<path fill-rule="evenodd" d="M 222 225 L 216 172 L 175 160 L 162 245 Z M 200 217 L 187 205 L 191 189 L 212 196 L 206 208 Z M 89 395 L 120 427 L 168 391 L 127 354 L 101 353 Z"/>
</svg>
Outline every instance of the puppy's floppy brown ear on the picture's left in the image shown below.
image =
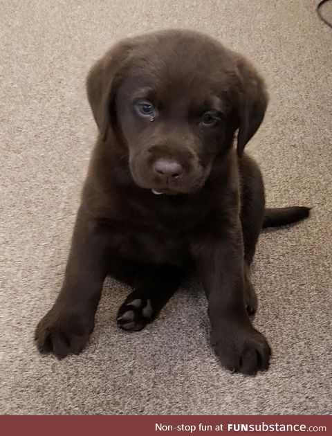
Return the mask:
<svg viewBox="0 0 332 436">
<path fill-rule="evenodd" d="M 86 78 L 86 91 L 102 140 L 111 126 L 111 106 L 120 73 L 131 51 L 128 40 L 119 42 L 93 65 Z"/>
</svg>

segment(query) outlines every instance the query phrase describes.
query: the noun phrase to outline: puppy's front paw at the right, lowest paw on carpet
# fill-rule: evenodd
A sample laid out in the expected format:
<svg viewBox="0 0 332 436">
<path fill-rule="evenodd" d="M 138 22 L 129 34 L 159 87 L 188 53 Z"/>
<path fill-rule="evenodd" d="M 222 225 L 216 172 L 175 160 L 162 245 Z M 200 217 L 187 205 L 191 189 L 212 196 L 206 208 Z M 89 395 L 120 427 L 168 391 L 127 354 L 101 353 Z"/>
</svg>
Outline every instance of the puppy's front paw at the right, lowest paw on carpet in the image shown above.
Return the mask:
<svg viewBox="0 0 332 436">
<path fill-rule="evenodd" d="M 267 370 L 270 347 L 252 325 L 228 323 L 212 331 L 211 342 L 221 364 L 232 372 L 255 375 Z"/>
</svg>

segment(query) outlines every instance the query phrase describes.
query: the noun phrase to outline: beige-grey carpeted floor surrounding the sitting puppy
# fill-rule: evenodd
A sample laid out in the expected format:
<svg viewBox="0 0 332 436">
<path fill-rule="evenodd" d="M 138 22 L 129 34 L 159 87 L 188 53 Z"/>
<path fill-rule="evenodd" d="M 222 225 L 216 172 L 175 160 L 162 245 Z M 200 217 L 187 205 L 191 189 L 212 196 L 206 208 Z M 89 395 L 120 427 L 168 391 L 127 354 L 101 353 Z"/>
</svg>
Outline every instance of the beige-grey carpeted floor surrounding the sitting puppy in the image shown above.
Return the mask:
<svg viewBox="0 0 332 436">
<path fill-rule="evenodd" d="M 331 413 L 332 29 L 316 3 L 1 1 L 1 413 Z M 62 282 L 95 138 L 86 73 L 116 39 L 167 27 L 203 30 L 255 62 L 271 98 L 248 152 L 268 203 L 313 206 L 308 221 L 261 236 L 255 325 L 273 359 L 255 378 L 219 366 L 195 280 L 136 334 L 116 327 L 129 289 L 109 280 L 84 354 L 57 361 L 33 343 Z"/>
</svg>

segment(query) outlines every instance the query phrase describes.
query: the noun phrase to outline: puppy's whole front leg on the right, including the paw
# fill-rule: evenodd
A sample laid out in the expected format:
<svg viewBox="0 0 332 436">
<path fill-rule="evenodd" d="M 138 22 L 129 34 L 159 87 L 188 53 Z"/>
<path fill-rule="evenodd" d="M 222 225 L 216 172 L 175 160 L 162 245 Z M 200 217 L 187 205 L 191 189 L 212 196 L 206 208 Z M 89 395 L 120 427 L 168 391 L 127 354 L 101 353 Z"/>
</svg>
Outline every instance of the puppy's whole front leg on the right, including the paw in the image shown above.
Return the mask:
<svg viewBox="0 0 332 436">
<path fill-rule="evenodd" d="M 208 297 L 212 345 L 222 365 L 243 374 L 266 370 L 270 347 L 252 327 L 244 302 L 240 222 L 196 239 L 192 253 Z"/>
</svg>

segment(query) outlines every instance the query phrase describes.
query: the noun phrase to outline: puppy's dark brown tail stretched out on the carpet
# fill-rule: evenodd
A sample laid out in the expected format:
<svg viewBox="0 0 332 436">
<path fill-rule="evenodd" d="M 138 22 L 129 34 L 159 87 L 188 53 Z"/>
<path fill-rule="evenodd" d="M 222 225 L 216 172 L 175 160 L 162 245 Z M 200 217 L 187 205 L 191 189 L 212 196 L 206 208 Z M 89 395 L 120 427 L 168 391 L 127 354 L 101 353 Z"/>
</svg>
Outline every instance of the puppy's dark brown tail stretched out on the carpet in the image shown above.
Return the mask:
<svg viewBox="0 0 332 436">
<path fill-rule="evenodd" d="M 291 208 L 266 208 L 263 228 L 286 226 L 309 216 L 311 208 L 293 206 Z"/>
</svg>

